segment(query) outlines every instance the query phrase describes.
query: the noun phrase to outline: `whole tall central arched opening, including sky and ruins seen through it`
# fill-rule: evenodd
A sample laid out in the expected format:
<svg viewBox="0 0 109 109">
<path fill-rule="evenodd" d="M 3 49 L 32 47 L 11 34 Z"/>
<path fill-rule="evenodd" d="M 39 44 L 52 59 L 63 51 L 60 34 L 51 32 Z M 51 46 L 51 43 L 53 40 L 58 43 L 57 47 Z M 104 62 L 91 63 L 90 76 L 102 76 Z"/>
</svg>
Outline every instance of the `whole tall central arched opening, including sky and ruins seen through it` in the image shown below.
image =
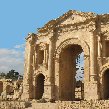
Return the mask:
<svg viewBox="0 0 109 109">
<path fill-rule="evenodd" d="M 82 56 L 81 56 L 82 55 Z M 68 45 L 59 57 L 59 99 L 63 101 L 83 99 L 84 65 L 83 49 L 80 45 Z M 81 82 L 78 82 L 81 81 Z M 79 83 L 79 87 L 77 84 Z"/>
</svg>

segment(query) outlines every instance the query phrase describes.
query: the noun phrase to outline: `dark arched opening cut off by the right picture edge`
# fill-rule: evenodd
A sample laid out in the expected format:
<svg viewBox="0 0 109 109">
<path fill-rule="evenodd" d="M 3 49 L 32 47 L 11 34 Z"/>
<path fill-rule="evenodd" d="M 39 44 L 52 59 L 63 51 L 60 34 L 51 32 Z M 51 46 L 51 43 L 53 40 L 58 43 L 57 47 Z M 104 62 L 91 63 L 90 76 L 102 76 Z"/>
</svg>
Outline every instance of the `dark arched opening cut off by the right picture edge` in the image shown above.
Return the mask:
<svg viewBox="0 0 109 109">
<path fill-rule="evenodd" d="M 103 83 L 104 99 L 109 99 L 109 69 L 107 69 L 104 73 Z"/>
</svg>

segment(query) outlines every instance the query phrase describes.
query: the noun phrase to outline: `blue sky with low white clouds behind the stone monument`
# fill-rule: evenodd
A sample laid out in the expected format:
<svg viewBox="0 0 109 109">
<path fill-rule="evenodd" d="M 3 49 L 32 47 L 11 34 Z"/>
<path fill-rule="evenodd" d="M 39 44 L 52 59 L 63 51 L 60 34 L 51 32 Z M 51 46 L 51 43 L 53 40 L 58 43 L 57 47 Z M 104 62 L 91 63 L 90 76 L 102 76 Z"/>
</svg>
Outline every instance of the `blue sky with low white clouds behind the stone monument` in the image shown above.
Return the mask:
<svg viewBox="0 0 109 109">
<path fill-rule="evenodd" d="M 109 13 L 109 1 L 1 0 L 0 72 L 7 72 L 13 68 L 22 73 L 23 45 L 27 34 L 36 32 L 37 28 L 42 27 L 49 20 L 59 17 L 68 10 L 95 12 L 97 14 Z M 15 65 L 15 62 L 18 65 Z"/>
</svg>

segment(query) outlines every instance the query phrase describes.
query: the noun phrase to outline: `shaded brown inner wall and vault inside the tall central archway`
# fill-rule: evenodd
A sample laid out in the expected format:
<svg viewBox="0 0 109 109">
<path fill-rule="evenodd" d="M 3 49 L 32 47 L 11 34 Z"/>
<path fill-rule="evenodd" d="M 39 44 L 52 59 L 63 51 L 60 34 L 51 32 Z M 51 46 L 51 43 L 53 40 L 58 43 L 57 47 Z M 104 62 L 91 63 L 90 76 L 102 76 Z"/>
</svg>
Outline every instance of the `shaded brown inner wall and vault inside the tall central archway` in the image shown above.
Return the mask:
<svg viewBox="0 0 109 109">
<path fill-rule="evenodd" d="M 59 64 L 59 99 L 63 101 L 76 100 L 77 70 L 80 70 L 79 58 L 83 53 L 80 45 L 68 45 L 60 54 Z M 82 68 L 83 69 L 83 68 Z M 82 71 L 83 73 L 83 71 Z M 80 84 L 80 83 L 79 83 Z M 81 91 L 80 91 L 81 94 Z M 80 95 L 81 96 L 81 95 Z M 81 99 L 81 97 L 80 97 Z"/>
</svg>

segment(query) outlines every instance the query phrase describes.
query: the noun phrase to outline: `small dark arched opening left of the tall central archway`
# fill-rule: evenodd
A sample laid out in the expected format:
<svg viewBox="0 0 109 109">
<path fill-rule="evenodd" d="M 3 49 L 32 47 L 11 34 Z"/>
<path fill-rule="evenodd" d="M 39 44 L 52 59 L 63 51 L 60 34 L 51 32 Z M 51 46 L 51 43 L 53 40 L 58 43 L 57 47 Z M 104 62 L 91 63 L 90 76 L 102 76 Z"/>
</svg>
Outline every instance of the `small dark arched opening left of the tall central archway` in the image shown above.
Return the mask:
<svg viewBox="0 0 109 109">
<path fill-rule="evenodd" d="M 44 93 L 44 79 L 43 74 L 39 74 L 36 77 L 36 99 L 41 99 Z"/>
</svg>

